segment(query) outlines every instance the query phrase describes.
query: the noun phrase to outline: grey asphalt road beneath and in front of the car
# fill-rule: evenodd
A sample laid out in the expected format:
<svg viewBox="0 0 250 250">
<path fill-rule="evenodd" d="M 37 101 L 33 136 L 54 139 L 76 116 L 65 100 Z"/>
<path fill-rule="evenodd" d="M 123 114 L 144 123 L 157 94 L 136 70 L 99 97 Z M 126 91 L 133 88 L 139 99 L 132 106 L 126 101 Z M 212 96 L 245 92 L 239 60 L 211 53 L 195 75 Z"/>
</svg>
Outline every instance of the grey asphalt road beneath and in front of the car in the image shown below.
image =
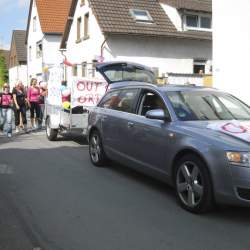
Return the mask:
<svg viewBox="0 0 250 250">
<path fill-rule="evenodd" d="M 250 209 L 202 216 L 167 185 L 118 164 L 91 165 L 82 140 L 0 137 L 1 250 L 241 250 Z"/>
</svg>

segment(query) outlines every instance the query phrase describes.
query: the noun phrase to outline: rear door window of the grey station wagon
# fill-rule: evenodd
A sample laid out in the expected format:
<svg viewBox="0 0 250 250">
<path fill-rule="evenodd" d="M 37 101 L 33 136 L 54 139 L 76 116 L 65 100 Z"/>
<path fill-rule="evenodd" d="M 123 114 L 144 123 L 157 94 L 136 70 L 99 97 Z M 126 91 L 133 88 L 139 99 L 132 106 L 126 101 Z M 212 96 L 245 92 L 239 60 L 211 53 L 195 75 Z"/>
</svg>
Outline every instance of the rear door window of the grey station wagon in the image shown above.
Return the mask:
<svg viewBox="0 0 250 250">
<path fill-rule="evenodd" d="M 138 89 L 125 89 L 122 90 L 119 99 L 120 101 L 117 104 L 116 110 L 133 113 L 135 99 L 138 94 Z"/>
</svg>

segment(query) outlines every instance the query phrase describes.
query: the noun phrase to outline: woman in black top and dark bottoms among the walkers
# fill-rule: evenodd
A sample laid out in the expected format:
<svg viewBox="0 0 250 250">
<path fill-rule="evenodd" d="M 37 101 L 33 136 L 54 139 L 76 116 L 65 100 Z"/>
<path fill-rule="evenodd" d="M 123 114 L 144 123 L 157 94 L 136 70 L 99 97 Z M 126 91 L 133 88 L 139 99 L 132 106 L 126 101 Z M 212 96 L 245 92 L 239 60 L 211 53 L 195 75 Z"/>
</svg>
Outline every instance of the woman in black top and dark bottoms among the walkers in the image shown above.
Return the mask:
<svg viewBox="0 0 250 250">
<path fill-rule="evenodd" d="M 25 132 L 27 132 L 26 105 L 28 104 L 28 101 L 26 99 L 25 90 L 21 81 L 16 84 L 16 87 L 13 89 L 12 94 L 14 100 L 16 132 L 18 133 L 20 131 L 20 118 L 22 118 L 24 130 Z"/>
</svg>

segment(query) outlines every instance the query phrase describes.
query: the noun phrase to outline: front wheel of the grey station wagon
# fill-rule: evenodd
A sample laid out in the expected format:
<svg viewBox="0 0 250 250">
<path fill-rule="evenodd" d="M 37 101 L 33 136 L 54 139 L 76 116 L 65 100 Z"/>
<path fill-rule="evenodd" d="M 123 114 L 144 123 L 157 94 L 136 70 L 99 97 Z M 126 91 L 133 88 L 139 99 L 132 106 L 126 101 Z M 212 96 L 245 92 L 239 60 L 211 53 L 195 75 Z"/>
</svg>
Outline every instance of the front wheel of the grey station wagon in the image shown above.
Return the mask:
<svg viewBox="0 0 250 250">
<path fill-rule="evenodd" d="M 205 213 L 214 205 L 213 187 L 206 164 L 196 155 L 182 157 L 176 164 L 175 188 L 180 205 L 192 213 Z"/>
</svg>

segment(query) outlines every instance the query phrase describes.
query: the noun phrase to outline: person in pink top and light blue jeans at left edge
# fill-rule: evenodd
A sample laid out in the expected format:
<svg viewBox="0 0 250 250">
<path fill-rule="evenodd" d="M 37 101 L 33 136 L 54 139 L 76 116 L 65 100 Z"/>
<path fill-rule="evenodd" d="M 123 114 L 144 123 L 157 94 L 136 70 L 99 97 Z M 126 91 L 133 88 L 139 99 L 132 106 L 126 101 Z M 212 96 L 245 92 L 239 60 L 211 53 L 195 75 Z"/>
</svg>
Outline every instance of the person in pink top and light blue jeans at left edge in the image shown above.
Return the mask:
<svg viewBox="0 0 250 250">
<path fill-rule="evenodd" d="M 12 137 L 12 104 L 13 98 L 8 84 L 4 84 L 3 93 L 0 94 L 1 112 L 0 123 L 3 125 L 3 131 L 9 138 Z"/>
</svg>

